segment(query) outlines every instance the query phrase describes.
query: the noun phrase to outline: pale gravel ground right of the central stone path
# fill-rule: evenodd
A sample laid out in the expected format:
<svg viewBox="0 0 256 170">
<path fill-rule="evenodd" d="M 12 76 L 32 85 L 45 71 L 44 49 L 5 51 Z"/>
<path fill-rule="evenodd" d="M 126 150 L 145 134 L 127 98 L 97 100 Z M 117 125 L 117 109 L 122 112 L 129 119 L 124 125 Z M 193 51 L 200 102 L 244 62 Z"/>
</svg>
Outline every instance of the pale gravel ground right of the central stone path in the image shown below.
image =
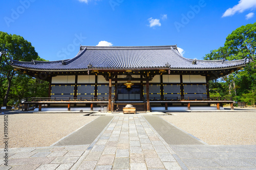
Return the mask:
<svg viewBox="0 0 256 170">
<path fill-rule="evenodd" d="M 161 117 L 208 144 L 256 144 L 256 111 L 172 114 Z"/>
</svg>

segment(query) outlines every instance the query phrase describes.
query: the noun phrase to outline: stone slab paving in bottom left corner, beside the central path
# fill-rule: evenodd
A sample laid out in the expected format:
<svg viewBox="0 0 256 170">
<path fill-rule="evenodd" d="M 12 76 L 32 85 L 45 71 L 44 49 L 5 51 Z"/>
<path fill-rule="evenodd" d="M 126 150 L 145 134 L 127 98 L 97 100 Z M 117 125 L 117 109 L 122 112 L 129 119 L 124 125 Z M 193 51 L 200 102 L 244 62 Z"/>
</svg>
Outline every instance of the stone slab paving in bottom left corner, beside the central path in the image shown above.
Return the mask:
<svg viewBox="0 0 256 170">
<path fill-rule="evenodd" d="M 13 148 L 9 149 L 8 166 L 4 165 L 4 150 L 0 152 L 0 169 L 70 169 L 87 150 L 87 145 L 69 145 L 62 147 Z"/>
</svg>

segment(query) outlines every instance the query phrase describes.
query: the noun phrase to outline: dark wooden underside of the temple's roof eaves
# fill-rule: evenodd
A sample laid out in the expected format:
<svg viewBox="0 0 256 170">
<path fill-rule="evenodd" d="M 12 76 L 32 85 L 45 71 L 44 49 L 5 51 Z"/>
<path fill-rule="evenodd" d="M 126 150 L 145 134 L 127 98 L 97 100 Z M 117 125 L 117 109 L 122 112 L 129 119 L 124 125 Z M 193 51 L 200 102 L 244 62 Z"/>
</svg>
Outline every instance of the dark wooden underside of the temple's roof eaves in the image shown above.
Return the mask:
<svg viewBox="0 0 256 170">
<path fill-rule="evenodd" d="M 231 72 L 242 69 L 243 66 L 226 68 L 226 69 L 212 69 L 212 70 L 180 70 L 180 69 L 140 69 L 140 70 L 114 70 L 114 69 L 101 69 L 101 70 L 32 70 L 26 68 L 15 68 L 15 70 L 27 74 L 29 76 L 35 77 L 37 79 L 51 81 L 51 77 L 55 76 L 66 76 L 66 75 L 103 75 L 106 80 L 114 78 L 117 75 L 142 75 L 143 77 L 154 78 L 155 75 L 201 75 L 206 76 L 208 80 L 218 79 L 220 77 L 226 76 Z"/>
</svg>

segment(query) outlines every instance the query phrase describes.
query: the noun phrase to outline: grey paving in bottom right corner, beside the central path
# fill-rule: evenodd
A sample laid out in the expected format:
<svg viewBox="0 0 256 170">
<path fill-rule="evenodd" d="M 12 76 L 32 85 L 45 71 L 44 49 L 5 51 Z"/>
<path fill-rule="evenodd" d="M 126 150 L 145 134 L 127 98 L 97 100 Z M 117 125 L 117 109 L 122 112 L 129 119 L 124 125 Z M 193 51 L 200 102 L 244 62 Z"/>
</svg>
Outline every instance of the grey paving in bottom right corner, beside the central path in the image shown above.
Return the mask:
<svg viewBox="0 0 256 170">
<path fill-rule="evenodd" d="M 170 145 L 184 169 L 256 169 L 256 145 Z"/>
</svg>

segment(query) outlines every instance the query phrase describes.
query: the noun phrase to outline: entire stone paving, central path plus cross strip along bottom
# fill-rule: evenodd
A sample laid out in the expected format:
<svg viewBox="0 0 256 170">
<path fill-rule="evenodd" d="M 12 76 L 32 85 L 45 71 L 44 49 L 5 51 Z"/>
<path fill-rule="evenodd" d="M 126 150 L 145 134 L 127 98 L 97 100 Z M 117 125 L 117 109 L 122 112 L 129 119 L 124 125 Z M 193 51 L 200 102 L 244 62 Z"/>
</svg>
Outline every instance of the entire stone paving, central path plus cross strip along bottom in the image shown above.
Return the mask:
<svg viewBox="0 0 256 170">
<path fill-rule="evenodd" d="M 2 169 L 256 169 L 256 145 L 168 145 L 142 115 L 118 115 L 89 145 L 9 149 Z"/>
</svg>

